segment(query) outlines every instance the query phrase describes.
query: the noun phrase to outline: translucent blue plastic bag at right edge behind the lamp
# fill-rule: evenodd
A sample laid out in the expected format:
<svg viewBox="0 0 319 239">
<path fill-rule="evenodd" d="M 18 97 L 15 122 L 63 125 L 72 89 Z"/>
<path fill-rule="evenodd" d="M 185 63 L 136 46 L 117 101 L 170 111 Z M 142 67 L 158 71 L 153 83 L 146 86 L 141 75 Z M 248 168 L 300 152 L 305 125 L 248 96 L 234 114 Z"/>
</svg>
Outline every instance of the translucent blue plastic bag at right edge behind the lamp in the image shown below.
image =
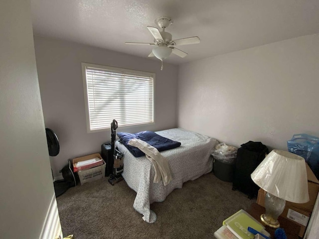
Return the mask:
<svg viewBox="0 0 319 239">
<path fill-rule="evenodd" d="M 302 156 L 317 178 L 319 178 L 319 137 L 306 133 L 294 134 L 287 141 L 288 151 Z"/>
</svg>

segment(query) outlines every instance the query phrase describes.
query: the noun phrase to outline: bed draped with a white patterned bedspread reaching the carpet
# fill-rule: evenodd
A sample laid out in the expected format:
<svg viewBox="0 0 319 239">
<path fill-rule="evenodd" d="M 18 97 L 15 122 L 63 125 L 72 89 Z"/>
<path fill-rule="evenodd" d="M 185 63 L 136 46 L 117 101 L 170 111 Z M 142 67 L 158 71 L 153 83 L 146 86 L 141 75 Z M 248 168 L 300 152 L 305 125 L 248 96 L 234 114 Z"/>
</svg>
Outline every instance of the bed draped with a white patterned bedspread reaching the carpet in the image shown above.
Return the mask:
<svg viewBox="0 0 319 239">
<path fill-rule="evenodd" d="M 212 170 L 210 154 L 218 143 L 216 139 L 183 128 L 156 131 L 160 136 L 181 142 L 181 146 L 160 152 L 167 158 L 172 181 L 164 186 L 163 182 L 153 183 L 155 170 L 146 156 L 135 157 L 119 141 L 116 146 L 124 153 L 123 178 L 136 193 L 133 207 L 143 214 L 143 220 L 154 223 L 156 214 L 150 209 L 154 202 L 163 202 L 174 189 L 194 180 Z"/>
</svg>

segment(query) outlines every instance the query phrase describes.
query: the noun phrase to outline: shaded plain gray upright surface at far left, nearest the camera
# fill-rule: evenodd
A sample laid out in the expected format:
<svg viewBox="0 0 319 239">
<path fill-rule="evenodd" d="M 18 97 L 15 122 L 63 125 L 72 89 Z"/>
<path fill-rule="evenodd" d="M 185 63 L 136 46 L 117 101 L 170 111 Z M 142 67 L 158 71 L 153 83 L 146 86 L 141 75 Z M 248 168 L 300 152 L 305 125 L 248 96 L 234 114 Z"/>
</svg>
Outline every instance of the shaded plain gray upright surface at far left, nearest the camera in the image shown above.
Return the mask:
<svg viewBox="0 0 319 239">
<path fill-rule="evenodd" d="M 0 1 L 0 232 L 39 238 L 54 197 L 30 2 Z"/>
</svg>

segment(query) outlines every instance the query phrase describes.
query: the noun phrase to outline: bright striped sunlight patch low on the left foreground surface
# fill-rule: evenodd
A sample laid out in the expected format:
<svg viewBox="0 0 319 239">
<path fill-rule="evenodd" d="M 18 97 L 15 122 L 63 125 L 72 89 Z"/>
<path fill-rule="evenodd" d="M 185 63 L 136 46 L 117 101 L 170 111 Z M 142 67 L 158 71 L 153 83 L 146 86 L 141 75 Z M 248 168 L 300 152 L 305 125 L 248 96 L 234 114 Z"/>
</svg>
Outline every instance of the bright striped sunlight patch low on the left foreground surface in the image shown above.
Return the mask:
<svg viewBox="0 0 319 239">
<path fill-rule="evenodd" d="M 42 231 L 39 239 L 62 239 L 62 229 L 58 213 L 58 207 L 53 194 L 49 209 L 46 213 L 45 221 L 43 223 Z"/>
</svg>

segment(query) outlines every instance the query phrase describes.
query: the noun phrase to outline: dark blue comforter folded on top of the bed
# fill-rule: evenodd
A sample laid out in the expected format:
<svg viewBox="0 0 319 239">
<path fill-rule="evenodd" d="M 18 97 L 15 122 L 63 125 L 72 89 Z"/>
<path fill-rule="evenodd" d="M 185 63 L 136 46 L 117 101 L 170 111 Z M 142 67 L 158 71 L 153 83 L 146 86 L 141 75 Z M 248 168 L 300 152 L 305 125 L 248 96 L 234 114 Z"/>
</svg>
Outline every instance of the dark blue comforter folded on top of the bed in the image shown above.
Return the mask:
<svg viewBox="0 0 319 239">
<path fill-rule="evenodd" d="M 141 139 L 141 140 L 147 142 L 148 144 L 152 145 L 153 147 L 157 148 L 159 151 L 177 148 L 180 146 L 180 142 L 173 141 L 169 138 L 162 137 L 159 134 L 152 132 L 152 131 L 143 131 L 143 132 L 139 132 L 139 133 L 119 132 L 119 133 L 117 133 L 117 135 L 118 135 L 120 141 L 125 145 L 125 147 L 127 147 L 127 149 L 130 150 L 130 152 L 135 157 L 144 156 L 145 153 L 143 153 L 140 149 L 128 144 L 132 138 Z"/>
</svg>

